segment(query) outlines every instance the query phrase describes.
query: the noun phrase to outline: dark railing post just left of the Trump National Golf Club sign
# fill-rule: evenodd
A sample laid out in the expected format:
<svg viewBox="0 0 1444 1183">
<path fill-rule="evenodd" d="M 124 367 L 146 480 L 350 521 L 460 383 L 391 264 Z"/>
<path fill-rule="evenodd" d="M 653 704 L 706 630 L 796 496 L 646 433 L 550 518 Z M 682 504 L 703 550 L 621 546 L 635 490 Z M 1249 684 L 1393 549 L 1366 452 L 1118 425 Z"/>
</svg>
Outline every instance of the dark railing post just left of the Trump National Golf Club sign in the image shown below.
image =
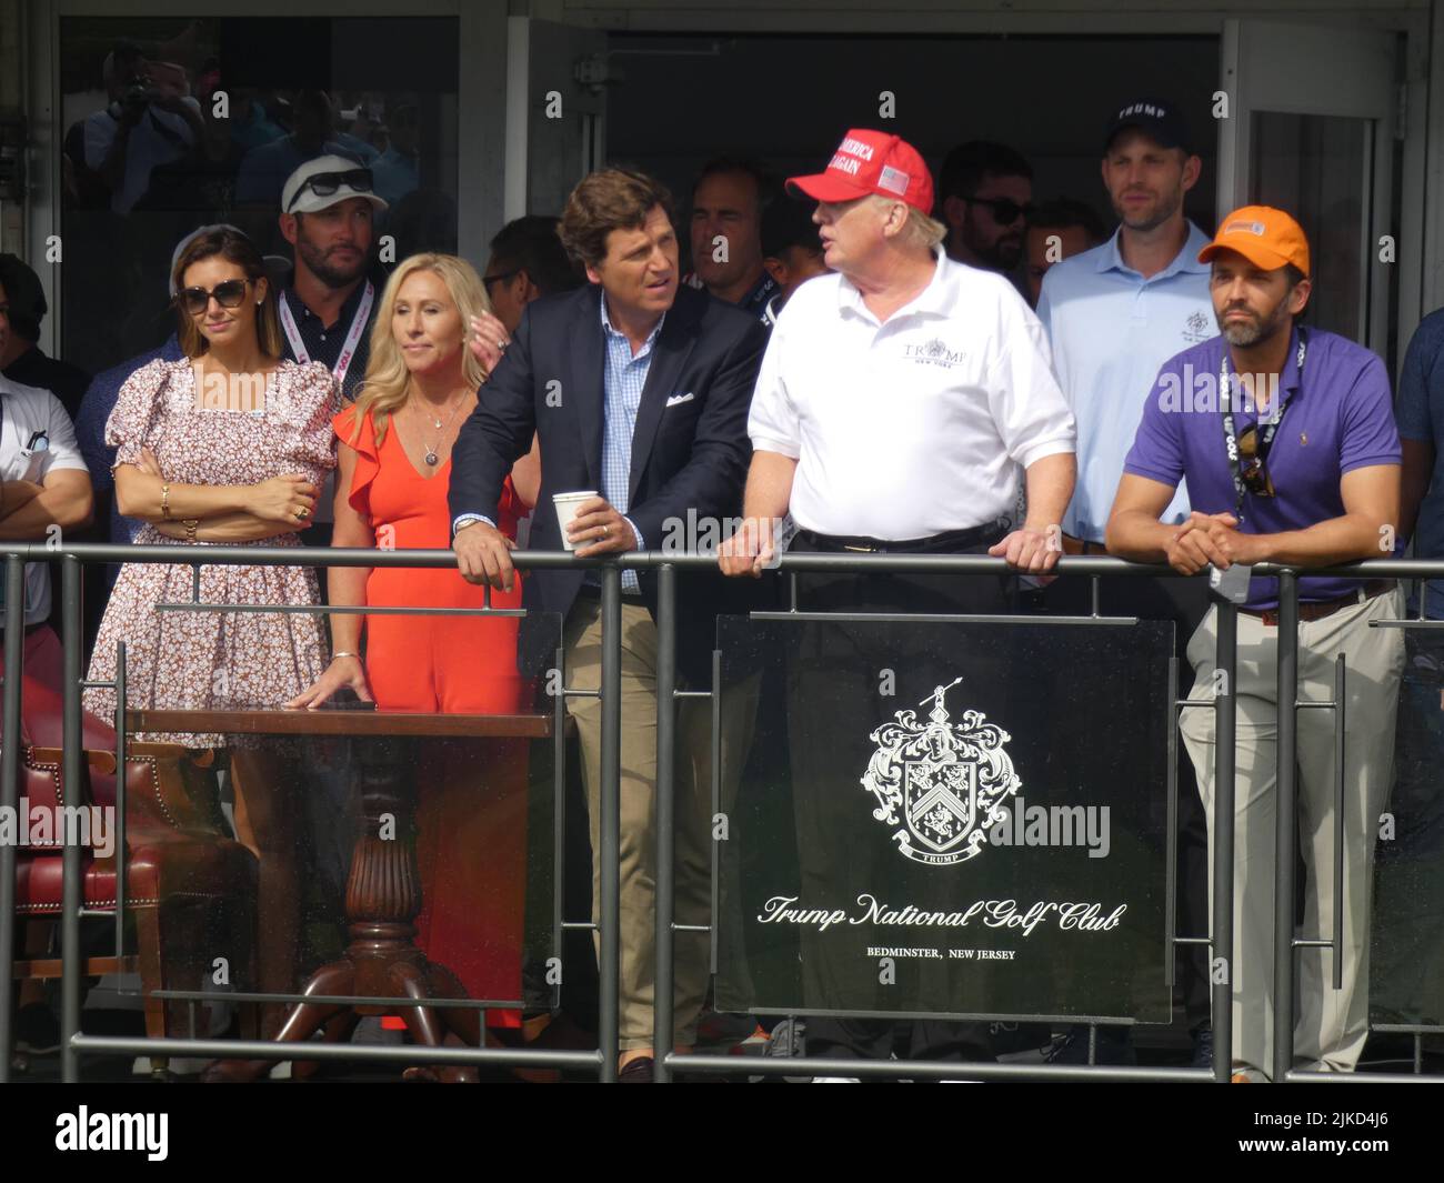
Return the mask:
<svg viewBox="0 0 1444 1183">
<path fill-rule="evenodd" d="M 657 572 L 657 985 L 653 994 L 653 1080 L 671 1079 L 673 913 L 676 907 L 677 569 Z"/>
</svg>

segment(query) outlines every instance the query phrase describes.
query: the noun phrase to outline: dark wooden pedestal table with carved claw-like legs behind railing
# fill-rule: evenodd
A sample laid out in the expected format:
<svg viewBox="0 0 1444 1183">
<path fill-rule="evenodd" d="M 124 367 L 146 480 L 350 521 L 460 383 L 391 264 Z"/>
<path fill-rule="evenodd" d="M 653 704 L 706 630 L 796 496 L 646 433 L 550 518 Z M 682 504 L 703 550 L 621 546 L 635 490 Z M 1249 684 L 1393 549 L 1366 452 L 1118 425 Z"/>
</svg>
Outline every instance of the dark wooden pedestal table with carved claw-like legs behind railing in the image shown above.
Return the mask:
<svg viewBox="0 0 1444 1183">
<path fill-rule="evenodd" d="M 481 1047 L 482 1017 L 475 1007 L 427 1007 L 427 1000 L 465 998 L 456 975 L 416 948 L 414 920 L 422 909 L 416 874 L 413 809 L 414 744 L 397 740 L 544 740 L 552 715 L 432 715 L 409 711 L 127 711 L 130 734 L 219 732 L 225 735 L 347 735 L 357 744 L 361 831 L 347 877 L 349 945 L 302 988 L 305 995 L 396 998 L 413 1005 L 377 1007 L 302 1002 L 286 1018 L 279 1041 L 309 1040 L 325 1028 L 328 1041 L 347 1039 L 364 1014 L 399 1013 L 420 1044 L 438 1047 L 446 1031 Z M 388 818 L 387 818 L 388 815 Z M 381 836 L 383 818 L 394 838 Z M 430 1075 L 412 1070 L 414 1075 Z M 412 1075 L 409 1073 L 409 1075 Z M 452 1069 L 446 1079 L 475 1079 Z"/>
</svg>

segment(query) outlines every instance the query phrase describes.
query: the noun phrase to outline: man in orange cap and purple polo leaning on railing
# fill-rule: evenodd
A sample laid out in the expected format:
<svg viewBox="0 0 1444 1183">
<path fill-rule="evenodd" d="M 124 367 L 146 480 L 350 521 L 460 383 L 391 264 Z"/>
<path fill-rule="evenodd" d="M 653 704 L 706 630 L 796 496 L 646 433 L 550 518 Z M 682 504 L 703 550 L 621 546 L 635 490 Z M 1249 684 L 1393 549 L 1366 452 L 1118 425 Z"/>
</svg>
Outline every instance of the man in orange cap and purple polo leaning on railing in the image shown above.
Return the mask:
<svg viewBox="0 0 1444 1183">
<path fill-rule="evenodd" d="M 1333 566 L 1393 549 L 1399 436 L 1389 377 L 1367 350 L 1297 325 L 1308 302 L 1308 243 L 1288 214 L 1251 205 L 1223 220 L 1199 253 L 1222 331 L 1164 364 L 1144 407 L 1108 523 L 1108 549 L 1136 562 Z M 1193 513 L 1160 516 L 1180 480 Z M 1346 664 L 1343 989 L 1324 981 L 1330 953 L 1298 958 L 1294 1053 L 1311 1069 L 1350 1072 L 1367 1034 L 1369 896 L 1379 810 L 1393 771 L 1404 640 L 1402 594 L 1388 581 L 1300 579 L 1298 695 L 1327 701 Z M 1249 581 L 1238 628 L 1235 822 L 1235 1080 L 1266 1075 L 1274 1039 L 1274 864 L 1278 773 L 1278 581 Z M 1214 692 L 1217 610 L 1188 644 L 1191 699 Z M 1302 935 L 1327 937 L 1334 916 L 1331 711 L 1300 711 L 1298 815 L 1308 867 Z M 1213 836 L 1213 709 L 1187 708 L 1184 744 Z M 1212 859 L 1210 859 L 1212 872 Z M 1210 900 L 1212 900 L 1210 890 Z"/>
</svg>

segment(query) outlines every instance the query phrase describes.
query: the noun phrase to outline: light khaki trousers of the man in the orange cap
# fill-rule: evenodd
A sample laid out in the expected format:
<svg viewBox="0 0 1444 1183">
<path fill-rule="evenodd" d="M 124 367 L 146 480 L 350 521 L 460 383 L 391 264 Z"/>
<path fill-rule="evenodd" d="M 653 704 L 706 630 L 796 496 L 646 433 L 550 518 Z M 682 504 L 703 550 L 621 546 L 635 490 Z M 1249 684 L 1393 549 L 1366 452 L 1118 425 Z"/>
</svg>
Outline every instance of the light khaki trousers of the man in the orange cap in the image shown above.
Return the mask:
<svg viewBox="0 0 1444 1183">
<path fill-rule="evenodd" d="M 1298 628 L 1298 698 L 1331 701 L 1334 660 L 1344 657 L 1343 989 L 1333 988 L 1333 952 L 1295 953 L 1294 1057 L 1315 1070 L 1352 1072 L 1369 1026 L 1369 910 L 1373 844 L 1393 779 L 1393 724 L 1404 672 L 1404 634 L 1370 628 L 1399 618 L 1395 589 Z M 1190 698 L 1213 698 L 1217 608 L 1188 643 L 1196 679 Z M 1233 862 L 1233 1060 L 1265 1075 L 1274 1040 L 1274 870 L 1278 780 L 1278 628 L 1239 612 L 1238 754 Z M 1307 939 L 1333 936 L 1334 712 L 1297 712 L 1300 851 Z M 1213 909 L 1214 719 L 1186 708 L 1180 729 L 1209 815 L 1209 907 Z M 1214 952 L 1217 956 L 1217 952 Z M 1222 1049 L 1219 1054 L 1223 1054 Z"/>
</svg>

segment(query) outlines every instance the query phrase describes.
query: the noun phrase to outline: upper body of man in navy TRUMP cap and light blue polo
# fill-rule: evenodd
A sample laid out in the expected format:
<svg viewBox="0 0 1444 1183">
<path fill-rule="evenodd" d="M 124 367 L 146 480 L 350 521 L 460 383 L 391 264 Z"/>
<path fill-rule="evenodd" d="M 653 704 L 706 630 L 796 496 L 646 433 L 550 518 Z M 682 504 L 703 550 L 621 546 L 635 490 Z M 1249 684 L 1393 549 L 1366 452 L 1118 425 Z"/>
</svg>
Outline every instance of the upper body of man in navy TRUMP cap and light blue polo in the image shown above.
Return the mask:
<svg viewBox="0 0 1444 1183">
<path fill-rule="evenodd" d="M 1174 103 L 1119 108 L 1103 150 L 1118 231 L 1050 267 L 1043 280 L 1038 319 L 1079 429 L 1079 480 L 1063 517 L 1066 549 L 1074 553 L 1103 550 L 1123 456 L 1158 367 L 1214 335 L 1209 269 L 1199 263 L 1209 235 L 1183 214 L 1200 168 Z M 1180 491 L 1164 520 L 1187 516 Z"/>
</svg>

